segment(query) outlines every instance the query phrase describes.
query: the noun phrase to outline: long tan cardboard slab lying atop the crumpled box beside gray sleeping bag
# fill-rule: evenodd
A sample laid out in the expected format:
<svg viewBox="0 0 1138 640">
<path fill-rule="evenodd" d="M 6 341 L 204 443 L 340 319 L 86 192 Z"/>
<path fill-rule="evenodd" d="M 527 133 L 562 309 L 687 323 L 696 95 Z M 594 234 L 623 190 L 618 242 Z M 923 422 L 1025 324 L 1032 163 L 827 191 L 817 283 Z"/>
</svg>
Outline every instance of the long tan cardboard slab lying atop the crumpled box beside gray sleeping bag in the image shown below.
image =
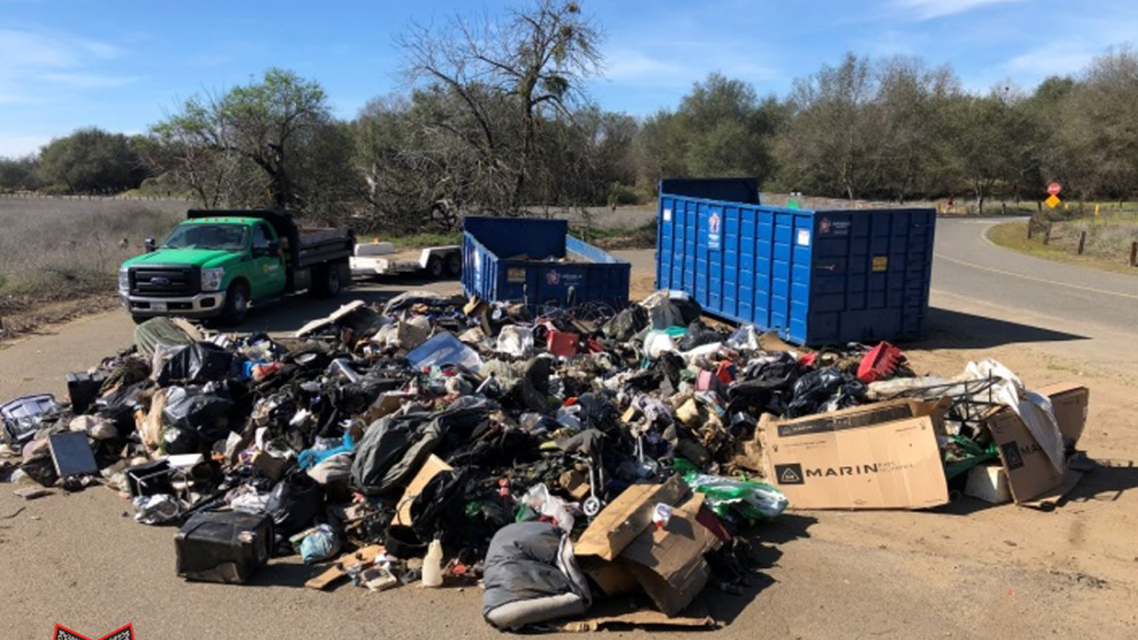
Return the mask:
<svg viewBox="0 0 1138 640">
<path fill-rule="evenodd" d="M 679 476 L 663 484 L 634 484 L 609 503 L 574 545 L 577 556 L 612 560 L 652 523 L 657 502 L 679 503 L 691 493 Z"/>
</svg>

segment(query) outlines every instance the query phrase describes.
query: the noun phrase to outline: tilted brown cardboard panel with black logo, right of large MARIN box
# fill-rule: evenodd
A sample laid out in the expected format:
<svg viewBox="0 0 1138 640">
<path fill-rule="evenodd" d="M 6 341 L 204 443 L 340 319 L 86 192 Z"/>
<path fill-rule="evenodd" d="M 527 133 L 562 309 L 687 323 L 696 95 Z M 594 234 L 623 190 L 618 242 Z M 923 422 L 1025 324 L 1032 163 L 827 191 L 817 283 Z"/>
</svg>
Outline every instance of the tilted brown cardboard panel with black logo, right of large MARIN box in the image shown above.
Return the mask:
<svg viewBox="0 0 1138 640">
<path fill-rule="evenodd" d="M 1029 502 L 1064 483 L 1066 468 L 1056 470 L 1044 448 L 1015 411 L 1004 408 L 988 418 L 1008 487 L 1016 503 Z"/>
</svg>

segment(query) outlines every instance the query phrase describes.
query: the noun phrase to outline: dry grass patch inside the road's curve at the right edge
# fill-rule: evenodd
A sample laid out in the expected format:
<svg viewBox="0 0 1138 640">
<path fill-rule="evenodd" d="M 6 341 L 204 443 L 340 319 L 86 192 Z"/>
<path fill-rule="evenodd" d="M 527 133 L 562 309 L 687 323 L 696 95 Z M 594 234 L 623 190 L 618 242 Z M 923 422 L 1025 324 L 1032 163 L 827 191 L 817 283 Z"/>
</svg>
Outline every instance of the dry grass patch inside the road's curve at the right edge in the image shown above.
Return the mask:
<svg viewBox="0 0 1138 640">
<path fill-rule="evenodd" d="M 1075 225 L 1075 223 L 1083 222 L 1086 219 L 1071 223 L 1063 223 L 1062 227 L 1056 224 L 1052 229 L 1052 241 L 1047 245 L 1044 244 L 1044 233 L 1041 231 L 1036 232 L 1031 239 L 1028 238 L 1026 221 L 1004 222 L 1001 224 L 997 224 L 988 230 L 988 239 L 1001 247 L 1033 255 L 1036 257 L 1054 260 L 1056 262 L 1066 262 L 1069 264 L 1079 264 L 1082 266 L 1090 266 L 1092 269 L 1102 269 L 1104 271 L 1115 271 L 1119 273 L 1138 276 L 1138 268 L 1130 266 L 1129 249 L 1127 249 L 1125 255 L 1123 255 L 1121 251 L 1111 251 L 1105 253 L 1091 253 L 1090 251 L 1085 251 L 1083 255 L 1078 254 L 1077 247 L 1079 243 L 1080 229 Z M 1100 224 L 1106 225 L 1106 223 Z M 1119 224 L 1119 229 L 1128 233 L 1131 230 L 1138 230 L 1138 225 L 1131 227 L 1127 224 Z M 1105 236 L 1115 240 L 1108 243 L 1111 246 L 1119 244 L 1116 241 L 1119 237 L 1125 237 L 1120 236 L 1119 233 L 1107 233 Z M 1088 233 L 1087 247 L 1091 246 L 1089 237 L 1090 236 Z M 1129 245 L 1127 246 L 1129 247 Z"/>
</svg>

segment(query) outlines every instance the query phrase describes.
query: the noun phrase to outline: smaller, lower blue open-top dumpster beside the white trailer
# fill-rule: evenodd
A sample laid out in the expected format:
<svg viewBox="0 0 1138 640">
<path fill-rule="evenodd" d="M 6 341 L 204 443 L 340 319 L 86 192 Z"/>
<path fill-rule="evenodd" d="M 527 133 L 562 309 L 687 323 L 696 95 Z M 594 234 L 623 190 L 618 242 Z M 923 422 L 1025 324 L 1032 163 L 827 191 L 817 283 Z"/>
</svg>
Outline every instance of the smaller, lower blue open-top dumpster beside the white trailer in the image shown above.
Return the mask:
<svg viewBox="0 0 1138 640">
<path fill-rule="evenodd" d="M 552 306 L 628 304 L 629 264 L 569 236 L 564 220 L 468 216 L 462 229 L 468 296 Z"/>
</svg>

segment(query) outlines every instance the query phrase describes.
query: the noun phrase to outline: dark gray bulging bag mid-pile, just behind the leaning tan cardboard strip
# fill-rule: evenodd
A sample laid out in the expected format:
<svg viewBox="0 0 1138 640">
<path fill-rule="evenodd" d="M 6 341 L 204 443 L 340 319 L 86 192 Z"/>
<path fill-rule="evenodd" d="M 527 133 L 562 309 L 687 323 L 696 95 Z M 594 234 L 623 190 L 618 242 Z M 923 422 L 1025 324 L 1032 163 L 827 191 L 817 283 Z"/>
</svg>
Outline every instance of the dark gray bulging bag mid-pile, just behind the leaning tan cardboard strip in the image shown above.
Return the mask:
<svg viewBox="0 0 1138 640">
<path fill-rule="evenodd" d="M 419 470 L 442 438 L 428 413 L 388 416 L 371 424 L 352 462 L 352 486 L 379 495 L 401 486 Z"/>
</svg>

